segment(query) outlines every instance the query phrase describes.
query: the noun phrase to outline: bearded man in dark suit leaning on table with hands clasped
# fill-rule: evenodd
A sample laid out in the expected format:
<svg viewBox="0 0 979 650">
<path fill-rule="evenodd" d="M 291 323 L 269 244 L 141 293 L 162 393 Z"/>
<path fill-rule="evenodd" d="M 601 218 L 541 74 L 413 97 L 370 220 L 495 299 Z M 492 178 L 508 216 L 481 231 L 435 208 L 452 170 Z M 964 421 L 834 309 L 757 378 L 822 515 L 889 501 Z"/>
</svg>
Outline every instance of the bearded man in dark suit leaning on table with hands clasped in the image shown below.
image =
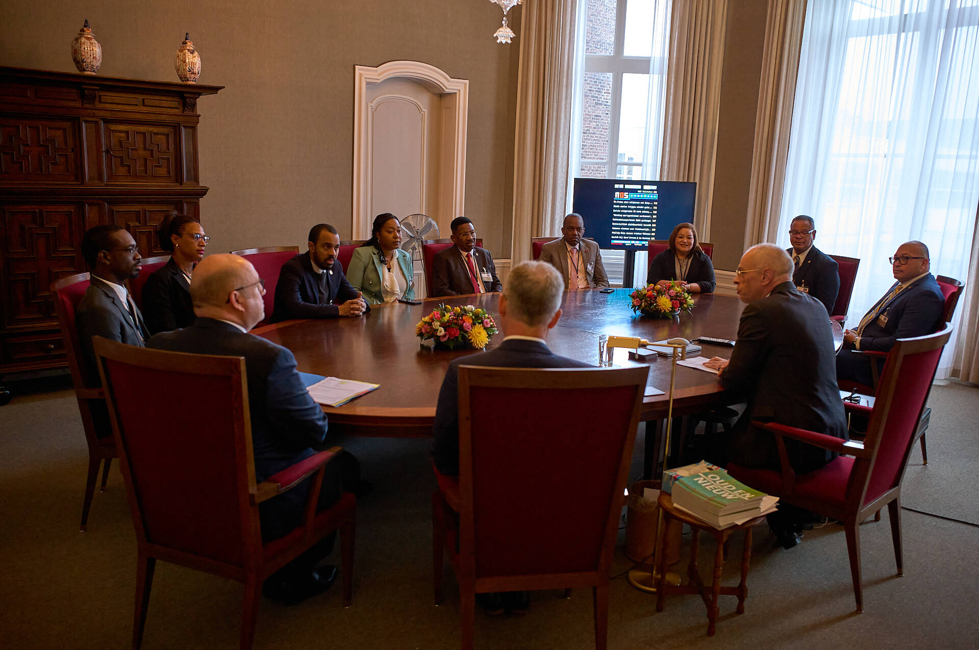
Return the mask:
<svg viewBox="0 0 979 650">
<path fill-rule="evenodd" d="M 309 230 L 308 252 L 282 265 L 275 285 L 273 323 L 290 318 L 337 318 L 370 311 L 360 292 L 350 286 L 337 262 L 340 235 L 327 223 Z"/>
</svg>

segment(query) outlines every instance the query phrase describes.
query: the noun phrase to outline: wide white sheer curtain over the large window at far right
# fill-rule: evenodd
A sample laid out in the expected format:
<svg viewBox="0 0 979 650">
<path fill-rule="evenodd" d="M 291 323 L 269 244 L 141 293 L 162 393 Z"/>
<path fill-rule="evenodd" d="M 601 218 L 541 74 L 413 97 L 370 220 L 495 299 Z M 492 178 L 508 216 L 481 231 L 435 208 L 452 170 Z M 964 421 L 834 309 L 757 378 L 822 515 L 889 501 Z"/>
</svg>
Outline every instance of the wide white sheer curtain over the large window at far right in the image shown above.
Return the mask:
<svg viewBox="0 0 979 650">
<path fill-rule="evenodd" d="M 975 0 L 808 3 L 778 243 L 788 246 L 792 216 L 810 214 L 821 251 L 861 258 L 848 322 L 894 282 L 887 258 L 903 242 L 929 247 L 934 274 L 966 278 L 979 203 L 977 43 Z"/>
</svg>

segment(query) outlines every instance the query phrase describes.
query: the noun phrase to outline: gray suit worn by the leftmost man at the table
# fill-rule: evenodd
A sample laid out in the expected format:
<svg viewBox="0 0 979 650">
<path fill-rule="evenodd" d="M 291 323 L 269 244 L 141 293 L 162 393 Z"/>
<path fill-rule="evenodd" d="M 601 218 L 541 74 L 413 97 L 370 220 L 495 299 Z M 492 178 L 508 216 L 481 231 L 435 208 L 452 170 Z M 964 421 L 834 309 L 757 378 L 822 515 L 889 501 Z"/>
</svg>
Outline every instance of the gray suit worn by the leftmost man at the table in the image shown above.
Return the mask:
<svg viewBox="0 0 979 650">
<path fill-rule="evenodd" d="M 133 322 L 126 305 L 119 300 L 116 291 L 105 280 L 91 276 L 91 284 L 78 302 L 74 324 L 78 329 L 78 343 L 84 353 L 85 372 L 92 386 L 99 386 L 99 371 L 95 365 L 95 349 L 92 337 L 100 336 L 129 346 L 143 347 L 150 333 L 143 323 L 139 307 L 133 303 L 138 322 Z"/>
</svg>

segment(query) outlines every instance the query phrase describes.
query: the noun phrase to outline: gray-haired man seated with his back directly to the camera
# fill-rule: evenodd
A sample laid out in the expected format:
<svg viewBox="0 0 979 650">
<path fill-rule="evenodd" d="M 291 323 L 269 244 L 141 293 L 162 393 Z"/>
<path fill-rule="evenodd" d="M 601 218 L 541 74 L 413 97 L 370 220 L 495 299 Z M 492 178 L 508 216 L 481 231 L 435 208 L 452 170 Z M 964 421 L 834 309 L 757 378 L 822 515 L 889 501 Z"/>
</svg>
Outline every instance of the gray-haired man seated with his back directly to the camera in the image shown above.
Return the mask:
<svg viewBox="0 0 979 650">
<path fill-rule="evenodd" d="M 506 290 L 499 299 L 500 328 L 505 334 L 499 347 L 463 356 L 448 364 L 439 403 L 435 411 L 432 457 L 439 471 L 448 477 L 459 474 L 459 366 L 500 368 L 586 368 L 587 363 L 558 356 L 547 348 L 545 339 L 561 317 L 564 279 L 553 266 L 543 261 L 525 261 L 510 271 Z M 526 591 L 477 594 L 488 614 L 525 612 Z"/>
</svg>

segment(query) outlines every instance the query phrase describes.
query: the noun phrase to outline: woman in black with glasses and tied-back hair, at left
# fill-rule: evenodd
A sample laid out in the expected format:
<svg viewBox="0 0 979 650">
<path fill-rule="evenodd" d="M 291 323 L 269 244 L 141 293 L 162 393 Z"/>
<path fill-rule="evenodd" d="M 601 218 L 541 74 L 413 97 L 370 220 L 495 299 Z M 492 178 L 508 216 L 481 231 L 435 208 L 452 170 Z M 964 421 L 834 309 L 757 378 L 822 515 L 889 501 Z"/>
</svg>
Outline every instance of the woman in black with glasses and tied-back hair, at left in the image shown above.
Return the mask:
<svg viewBox="0 0 979 650">
<path fill-rule="evenodd" d="M 146 279 L 143 287 L 143 319 L 150 334 L 177 330 L 194 322 L 190 282 L 210 240 L 201 224 L 186 214 L 170 214 L 163 219 L 157 236 L 160 248 L 172 255 L 166 265 Z"/>
</svg>

